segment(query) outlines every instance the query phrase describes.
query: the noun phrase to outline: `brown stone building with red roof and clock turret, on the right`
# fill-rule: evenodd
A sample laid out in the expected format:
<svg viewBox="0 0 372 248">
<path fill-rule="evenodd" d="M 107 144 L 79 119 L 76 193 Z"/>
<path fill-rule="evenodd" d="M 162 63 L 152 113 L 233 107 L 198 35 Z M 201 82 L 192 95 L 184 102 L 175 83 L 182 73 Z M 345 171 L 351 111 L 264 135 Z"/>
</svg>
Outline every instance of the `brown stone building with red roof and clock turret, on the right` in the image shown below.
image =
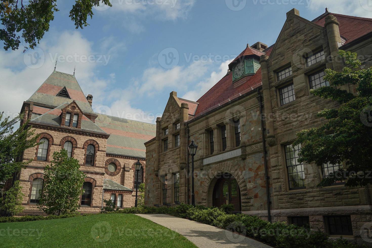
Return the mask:
<svg viewBox="0 0 372 248">
<path fill-rule="evenodd" d="M 324 68 L 343 68 L 338 49 L 357 52 L 363 67 L 371 66 L 371 27 L 368 18 L 326 9 L 310 21 L 292 9 L 275 44 L 247 45 L 197 102 L 171 92 L 156 137 L 145 143 L 145 204 L 191 202 L 187 145 L 194 140 L 196 204 L 232 203 L 244 214 L 359 237 L 371 222 L 371 187 L 316 187 L 342 165 L 299 163 L 301 146 L 291 144 L 297 131 L 324 123 L 319 110 L 337 107 L 310 89 L 329 85 Z"/>
</svg>

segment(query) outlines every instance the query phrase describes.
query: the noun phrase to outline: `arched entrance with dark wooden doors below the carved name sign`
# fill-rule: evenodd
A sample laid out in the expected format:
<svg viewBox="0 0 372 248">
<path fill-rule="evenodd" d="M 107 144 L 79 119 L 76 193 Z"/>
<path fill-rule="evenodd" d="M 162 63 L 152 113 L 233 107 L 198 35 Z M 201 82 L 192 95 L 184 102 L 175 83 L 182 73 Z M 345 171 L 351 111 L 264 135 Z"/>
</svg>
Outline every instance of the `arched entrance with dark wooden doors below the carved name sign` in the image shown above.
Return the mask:
<svg viewBox="0 0 372 248">
<path fill-rule="evenodd" d="M 235 211 L 241 211 L 240 188 L 237 180 L 230 173 L 222 173 L 213 189 L 213 206 L 220 207 L 222 204 L 234 204 Z"/>
</svg>

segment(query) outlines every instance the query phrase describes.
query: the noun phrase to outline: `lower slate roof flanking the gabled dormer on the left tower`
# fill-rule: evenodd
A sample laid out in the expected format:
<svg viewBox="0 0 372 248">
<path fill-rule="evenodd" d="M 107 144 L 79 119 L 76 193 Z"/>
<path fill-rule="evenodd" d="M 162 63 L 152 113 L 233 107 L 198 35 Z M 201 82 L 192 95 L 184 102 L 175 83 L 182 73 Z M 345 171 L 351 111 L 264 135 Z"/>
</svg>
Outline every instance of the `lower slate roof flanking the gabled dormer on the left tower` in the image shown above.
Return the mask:
<svg viewBox="0 0 372 248">
<path fill-rule="evenodd" d="M 66 107 L 68 104 L 69 103 L 64 103 L 56 107 L 55 109 L 50 109 L 49 111 L 47 111 L 48 110 L 47 108 L 35 106 L 36 109 L 34 107 L 34 110 L 31 116 L 31 122 L 48 124 L 52 126 L 61 126 L 62 109 Z M 97 132 L 97 133 L 106 133 L 105 131 L 100 129 L 96 124 L 94 124 L 91 120 L 89 120 L 84 115 L 81 118 L 81 130 Z"/>
</svg>

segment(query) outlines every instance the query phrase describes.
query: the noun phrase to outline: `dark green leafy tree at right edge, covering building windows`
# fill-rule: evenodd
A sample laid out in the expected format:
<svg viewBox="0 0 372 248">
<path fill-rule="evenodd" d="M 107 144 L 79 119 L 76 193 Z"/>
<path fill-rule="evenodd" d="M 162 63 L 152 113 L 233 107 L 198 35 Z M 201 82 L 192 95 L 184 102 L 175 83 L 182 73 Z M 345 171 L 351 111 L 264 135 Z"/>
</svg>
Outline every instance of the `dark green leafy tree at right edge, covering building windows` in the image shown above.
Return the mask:
<svg viewBox="0 0 372 248">
<path fill-rule="evenodd" d="M 341 72 L 325 69 L 323 78 L 330 86 L 311 93 L 332 99 L 340 106 L 318 112 L 317 116 L 327 122 L 298 132 L 294 145 L 302 145 L 299 161 L 315 162 L 318 166 L 343 165 L 343 169 L 330 173 L 318 186 L 340 180 L 346 181 L 345 186 L 365 186 L 372 183 L 372 67 L 362 69 L 356 53 L 340 50 L 339 55 L 349 66 Z M 336 88 L 347 84 L 355 85 L 357 93 Z"/>
</svg>

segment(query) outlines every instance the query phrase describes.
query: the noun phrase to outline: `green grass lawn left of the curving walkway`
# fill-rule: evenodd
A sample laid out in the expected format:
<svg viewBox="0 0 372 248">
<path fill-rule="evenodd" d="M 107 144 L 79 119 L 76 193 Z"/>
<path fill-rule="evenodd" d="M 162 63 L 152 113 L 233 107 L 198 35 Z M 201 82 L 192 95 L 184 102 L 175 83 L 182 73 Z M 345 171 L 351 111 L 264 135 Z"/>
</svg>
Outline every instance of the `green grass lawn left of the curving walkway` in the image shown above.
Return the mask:
<svg viewBox="0 0 372 248">
<path fill-rule="evenodd" d="M 0 223 L 0 247 L 196 247 L 183 236 L 132 214 Z"/>
</svg>

